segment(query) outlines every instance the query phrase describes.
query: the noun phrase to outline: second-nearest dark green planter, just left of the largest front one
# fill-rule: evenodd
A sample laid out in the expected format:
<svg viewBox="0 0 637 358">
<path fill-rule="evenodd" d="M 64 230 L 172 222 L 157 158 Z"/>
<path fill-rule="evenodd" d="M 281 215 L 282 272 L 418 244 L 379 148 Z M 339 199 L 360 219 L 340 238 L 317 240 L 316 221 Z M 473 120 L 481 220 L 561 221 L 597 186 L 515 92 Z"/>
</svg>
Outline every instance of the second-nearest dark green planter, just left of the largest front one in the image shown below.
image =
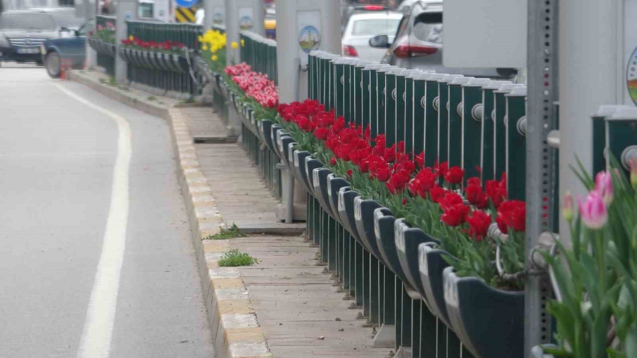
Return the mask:
<svg viewBox="0 0 637 358">
<path fill-rule="evenodd" d="M 443 256 L 448 254 L 445 250 L 435 248 L 432 244 L 421 243 L 418 247 L 420 281 L 431 313 L 445 322 L 447 326 L 451 326 L 445 303 L 445 285 L 443 285 L 442 279 L 443 270 L 449 267 Z"/>
</svg>

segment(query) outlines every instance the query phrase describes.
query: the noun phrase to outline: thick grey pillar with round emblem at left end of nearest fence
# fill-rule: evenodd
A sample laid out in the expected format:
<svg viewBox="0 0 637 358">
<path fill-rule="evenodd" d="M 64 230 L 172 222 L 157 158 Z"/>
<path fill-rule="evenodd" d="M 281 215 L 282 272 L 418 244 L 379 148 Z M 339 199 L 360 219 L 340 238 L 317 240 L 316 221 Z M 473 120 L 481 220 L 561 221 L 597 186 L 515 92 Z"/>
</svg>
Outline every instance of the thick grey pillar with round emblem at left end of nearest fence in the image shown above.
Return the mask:
<svg viewBox="0 0 637 358">
<path fill-rule="evenodd" d="M 276 66 L 279 102 L 308 97 L 307 54 L 310 50 L 341 53 L 340 0 L 276 0 Z M 299 38 L 316 40 L 313 48 L 301 48 Z M 302 71 L 299 71 L 303 68 Z"/>
</svg>

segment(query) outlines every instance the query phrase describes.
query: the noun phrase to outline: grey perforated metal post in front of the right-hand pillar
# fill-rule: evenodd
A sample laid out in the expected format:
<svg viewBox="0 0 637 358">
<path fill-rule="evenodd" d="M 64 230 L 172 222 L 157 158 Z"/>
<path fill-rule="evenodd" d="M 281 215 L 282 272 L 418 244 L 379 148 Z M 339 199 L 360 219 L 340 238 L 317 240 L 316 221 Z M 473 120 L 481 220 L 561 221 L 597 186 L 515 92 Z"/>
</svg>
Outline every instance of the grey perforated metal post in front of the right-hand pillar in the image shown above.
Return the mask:
<svg viewBox="0 0 637 358">
<path fill-rule="evenodd" d="M 552 229 L 551 182 L 554 173 L 551 155 L 548 155 L 547 135 L 555 125 L 556 113 L 553 103 L 558 98 L 557 10 L 557 0 L 528 2 L 525 250 L 527 268 L 533 266 L 528 258 L 538 245 L 540 234 Z M 531 357 L 531 348 L 540 343 L 547 343 L 551 338 L 550 319 L 547 319 L 545 310 L 548 299 L 550 285 L 547 277 L 530 276 L 526 282 L 524 297 L 524 356 L 527 358 Z"/>
</svg>

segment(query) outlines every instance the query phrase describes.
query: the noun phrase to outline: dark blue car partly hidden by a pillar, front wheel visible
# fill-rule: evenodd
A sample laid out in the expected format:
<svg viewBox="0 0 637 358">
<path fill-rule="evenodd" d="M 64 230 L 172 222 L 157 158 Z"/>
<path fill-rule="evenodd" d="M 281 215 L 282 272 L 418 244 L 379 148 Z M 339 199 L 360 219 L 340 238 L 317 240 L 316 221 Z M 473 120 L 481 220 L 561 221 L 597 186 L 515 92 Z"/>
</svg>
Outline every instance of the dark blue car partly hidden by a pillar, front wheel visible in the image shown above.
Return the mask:
<svg viewBox="0 0 637 358">
<path fill-rule="evenodd" d="M 73 36 L 44 41 L 40 47 L 40 54 L 49 76 L 58 78 L 61 75 L 62 59 L 68 60 L 71 68 L 83 68 L 86 59 L 85 38 L 89 29 L 93 27 L 92 20 L 73 30 Z"/>
</svg>

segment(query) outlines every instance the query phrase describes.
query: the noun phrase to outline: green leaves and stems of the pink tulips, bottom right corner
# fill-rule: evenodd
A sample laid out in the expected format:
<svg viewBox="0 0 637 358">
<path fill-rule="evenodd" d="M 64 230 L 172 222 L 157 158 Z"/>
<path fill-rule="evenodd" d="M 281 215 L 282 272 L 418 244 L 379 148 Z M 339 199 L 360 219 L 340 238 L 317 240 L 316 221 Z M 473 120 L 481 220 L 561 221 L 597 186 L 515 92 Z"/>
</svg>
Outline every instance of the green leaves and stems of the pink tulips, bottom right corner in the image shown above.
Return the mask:
<svg viewBox="0 0 637 358">
<path fill-rule="evenodd" d="M 620 168 L 614 158 L 611 167 Z M 594 187 L 579 161 L 575 173 Z M 593 230 L 576 217 L 572 247 L 558 241 L 559 255 L 546 255 L 561 300 L 548 305 L 558 348 L 545 351 L 558 357 L 637 357 L 637 193 L 626 176 L 610 173 L 608 224 Z"/>
</svg>

